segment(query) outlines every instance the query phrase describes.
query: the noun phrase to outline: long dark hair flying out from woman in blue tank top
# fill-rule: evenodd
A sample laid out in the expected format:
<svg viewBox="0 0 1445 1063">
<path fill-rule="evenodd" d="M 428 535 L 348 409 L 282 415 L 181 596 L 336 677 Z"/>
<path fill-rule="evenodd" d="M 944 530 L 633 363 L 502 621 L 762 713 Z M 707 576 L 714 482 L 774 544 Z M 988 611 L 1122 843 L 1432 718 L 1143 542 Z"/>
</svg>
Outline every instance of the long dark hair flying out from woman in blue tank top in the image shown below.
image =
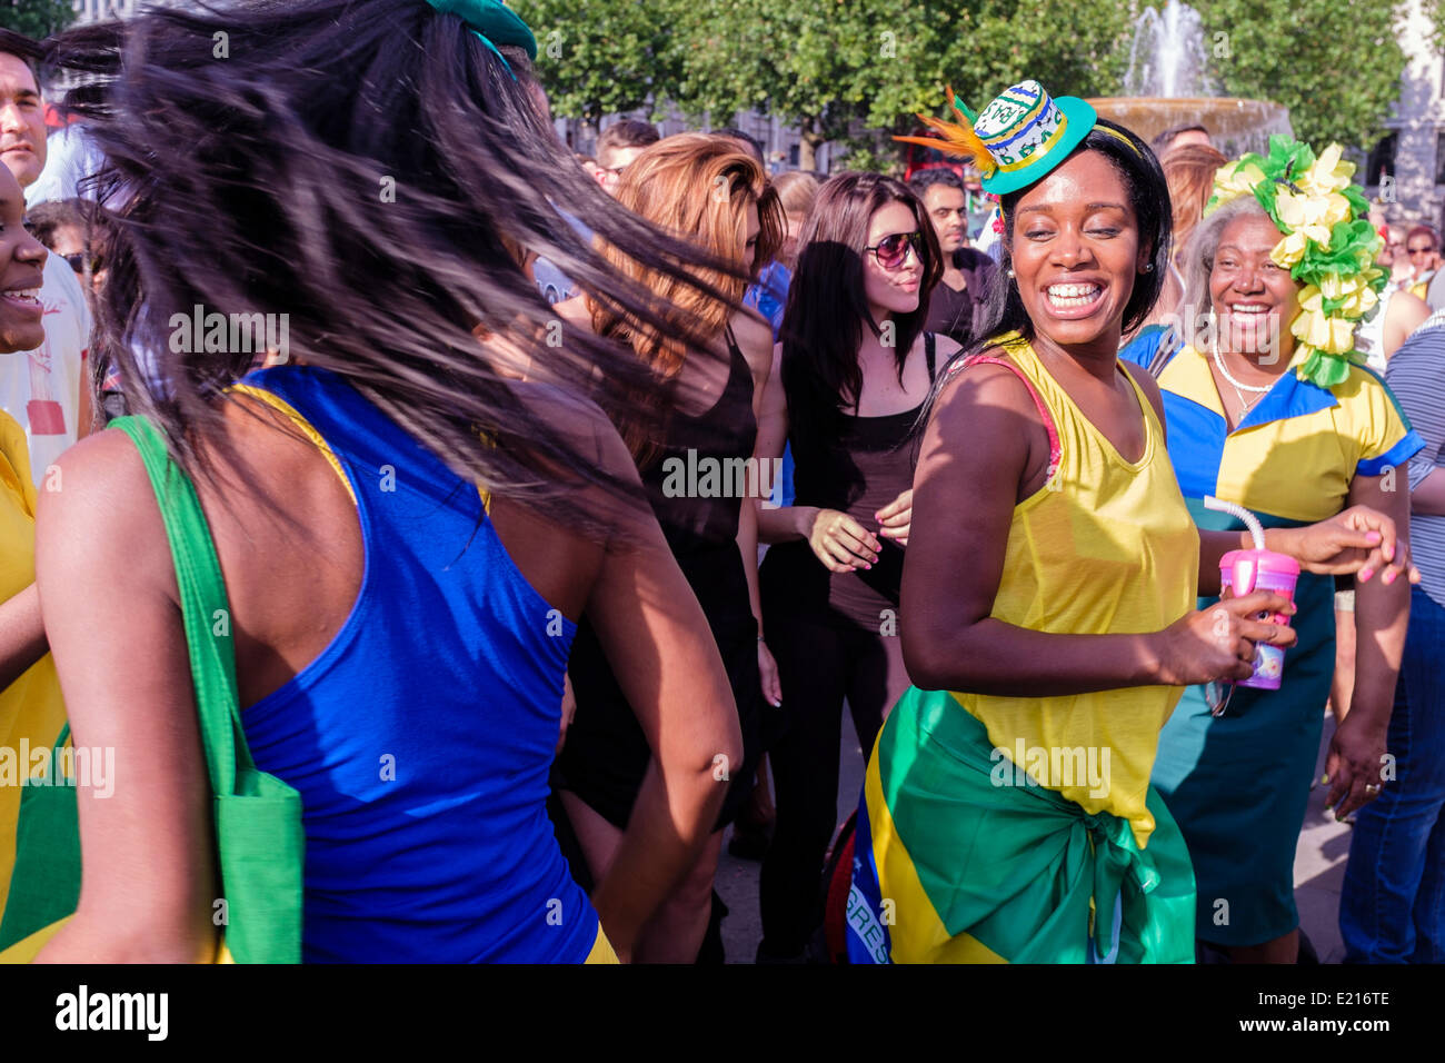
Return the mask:
<svg viewBox="0 0 1445 1063">
<path fill-rule="evenodd" d="M 562 331 L 517 249 L 594 299 L 669 334 L 688 323 L 611 268 L 572 211 L 663 272 L 715 266 L 617 205 L 455 14 L 422 0 L 221 0 L 68 30 L 48 65 L 84 85 L 68 104 L 105 152 L 117 207 L 98 340 L 134 412 L 211 474 L 201 435 L 250 350 L 176 351 L 173 314 L 286 314 L 289 354 L 345 377 L 494 495 L 581 521 L 577 487 L 640 490 L 525 402 L 587 392 L 605 409 L 642 388 L 630 351 Z M 478 343 L 473 330 L 499 337 Z M 646 412 L 633 411 L 634 417 Z"/>
</svg>

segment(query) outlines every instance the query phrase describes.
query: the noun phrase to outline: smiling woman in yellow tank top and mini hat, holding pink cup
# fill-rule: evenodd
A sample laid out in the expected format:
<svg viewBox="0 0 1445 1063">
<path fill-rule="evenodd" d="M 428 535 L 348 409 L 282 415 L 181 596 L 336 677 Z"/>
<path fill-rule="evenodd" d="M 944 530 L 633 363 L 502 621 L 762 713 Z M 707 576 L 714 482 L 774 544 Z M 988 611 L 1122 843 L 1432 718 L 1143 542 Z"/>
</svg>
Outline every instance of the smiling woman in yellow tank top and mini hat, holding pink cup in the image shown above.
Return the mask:
<svg viewBox="0 0 1445 1063">
<path fill-rule="evenodd" d="M 1292 607 L 1194 609 L 1248 537 L 1196 531 L 1159 389 L 1117 360 L 1169 262 L 1153 153 L 1036 81 L 958 110 L 936 143 L 1001 197 L 1004 282 L 928 411 L 900 618 L 916 686 L 864 780 L 848 955 L 1191 962 L 1189 855 L 1149 787 L 1159 729 L 1185 684 L 1290 645 L 1254 618 Z M 1361 509 L 1270 545 L 1397 570 L 1405 552 Z"/>
</svg>

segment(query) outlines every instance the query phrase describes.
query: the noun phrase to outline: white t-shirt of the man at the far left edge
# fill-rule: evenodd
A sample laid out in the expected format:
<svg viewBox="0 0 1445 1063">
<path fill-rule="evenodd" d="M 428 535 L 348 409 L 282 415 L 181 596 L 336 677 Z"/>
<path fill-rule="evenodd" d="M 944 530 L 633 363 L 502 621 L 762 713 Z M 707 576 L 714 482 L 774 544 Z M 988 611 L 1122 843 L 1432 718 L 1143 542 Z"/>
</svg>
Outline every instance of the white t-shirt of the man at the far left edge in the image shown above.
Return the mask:
<svg viewBox="0 0 1445 1063">
<path fill-rule="evenodd" d="M 75 272 L 58 255 L 45 260 L 40 304 L 45 343 L 32 351 L 0 354 L 0 408 L 25 428 L 36 487 L 61 451 L 75 443 L 90 347 L 90 307 Z"/>
</svg>

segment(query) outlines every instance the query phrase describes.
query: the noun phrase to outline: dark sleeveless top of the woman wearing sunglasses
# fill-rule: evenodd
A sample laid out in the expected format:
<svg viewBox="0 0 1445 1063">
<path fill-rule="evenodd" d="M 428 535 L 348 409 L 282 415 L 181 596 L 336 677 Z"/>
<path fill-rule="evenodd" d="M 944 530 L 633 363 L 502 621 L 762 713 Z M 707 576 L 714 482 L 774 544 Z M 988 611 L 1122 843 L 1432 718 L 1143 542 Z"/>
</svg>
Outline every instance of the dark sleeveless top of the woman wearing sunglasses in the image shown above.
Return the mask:
<svg viewBox="0 0 1445 1063">
<path fill-rule="evenodd" d="M 923 334 L 928 379 L 935 373 L 935 337 Z M 874 513 L 913 486 L 918 461 L 915 427 L 923 404 L 884 417 L 840 415 L 828 438 L 789 434 L 793 450 L 795 506 L 847 513 L 877 535 Z M 877 535 L 881 548 L 873 568 L 831 573 L 803 539 L 769 547 L 762 567 L 764 629 L 769 616 L 805 618 L 831 626 L 879 633 L 884 609 L 896 610 L 903 581 L 903 548 Z"/>
</svg>

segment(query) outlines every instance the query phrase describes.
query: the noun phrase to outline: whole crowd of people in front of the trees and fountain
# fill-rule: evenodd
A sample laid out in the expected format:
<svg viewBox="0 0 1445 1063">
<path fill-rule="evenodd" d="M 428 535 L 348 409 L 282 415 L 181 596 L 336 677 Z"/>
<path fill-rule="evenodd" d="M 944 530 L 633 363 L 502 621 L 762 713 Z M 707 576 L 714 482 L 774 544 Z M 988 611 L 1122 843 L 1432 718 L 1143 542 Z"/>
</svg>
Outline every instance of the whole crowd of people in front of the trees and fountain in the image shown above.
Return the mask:
<svg viewBox="0 0 1445 1063">
<path fill-rule="evenodd" d="M 712 963 L 727 840 L 759 963 L 1293 963 L 1316 782 L 1445 960 L 1433 229 L 1035 80 L 578 156 L 535 58 L 0 36 L 0 960 Z"/>
</svg>

